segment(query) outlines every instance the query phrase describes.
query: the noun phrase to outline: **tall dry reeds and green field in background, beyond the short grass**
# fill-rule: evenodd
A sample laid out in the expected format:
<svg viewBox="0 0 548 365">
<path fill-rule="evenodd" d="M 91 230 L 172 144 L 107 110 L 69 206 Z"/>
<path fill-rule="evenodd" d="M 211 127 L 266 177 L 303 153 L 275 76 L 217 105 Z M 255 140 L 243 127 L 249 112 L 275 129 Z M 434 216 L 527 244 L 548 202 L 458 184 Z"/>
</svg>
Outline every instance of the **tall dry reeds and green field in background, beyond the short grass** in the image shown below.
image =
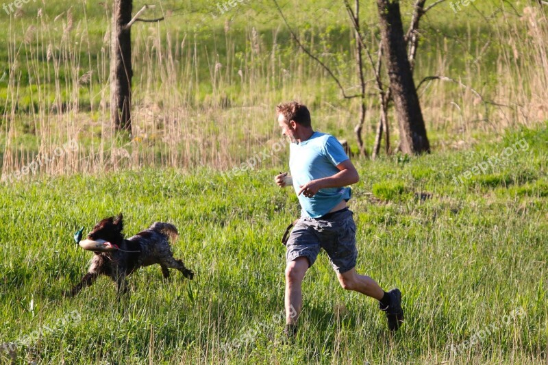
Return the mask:
<svg viewBox="0 0 548 365">
<path fill-rule="evenodd" d="M 316 128 L 353 141 L 358 101 L 340 99 L 327 73 L 292 45 L 269 1 L 242 3 L 216 18 L 210 15 L 216 7 L 208 3 L 187 4 L 205 18 L 167 12 L 171 3 L 163 3 L 164 10 L 158 11 L 165 12 L 166 21 L 136 23 L 134 129 L 131 136 L 116 135 L 108 107 L 111 4 L 63 4 L 29 3 L 5 27 L 8 51 L 0 82 L 4 176 L 73 138 L 79 142 L 77 152 L 38 171 L 231 168 L 277 140 L 273 108 L 287 99 L 310 105 Z M 299 5 L 303 12 L 285 10 L 301 41 L 321 55 L 349 90 L 356 88 L 352 32 L 344 9 L 329 2 Z M 445 75 L 462 83 L 431 81 L 419 90 L 434 148 L 459 147 L 547 118 L 548 25 L 538 4 L 527 2 L 516 15 L 508 4 L 491 1 L 454 16 L 445 5 L 423 21 L 416 66 L 417 81 Z M 409 8 L 404 10 L 408 16 Z M 371 25 L 364 29 L 374 49 L 375 8 L 366 5 L 364 12 Z M 484 16 L 492 13 L 486 23 Z M 368 68 L 366 78 L 372 77 Z M 375 90 L 369 92 L 364 133 L 371 148 L 378 110 Z M 390 126 L 397 128 L 393 114 Z"/>
</svg>

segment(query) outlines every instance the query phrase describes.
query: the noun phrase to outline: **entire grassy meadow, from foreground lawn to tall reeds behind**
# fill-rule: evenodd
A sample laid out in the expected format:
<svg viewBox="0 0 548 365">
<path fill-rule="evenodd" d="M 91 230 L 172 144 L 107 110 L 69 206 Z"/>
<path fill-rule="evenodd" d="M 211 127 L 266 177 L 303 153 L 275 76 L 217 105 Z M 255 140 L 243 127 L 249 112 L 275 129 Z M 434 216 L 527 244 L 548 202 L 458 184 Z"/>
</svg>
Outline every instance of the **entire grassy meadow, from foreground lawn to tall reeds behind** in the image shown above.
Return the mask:
<svg viewBox="0 0 548 365">
<path fill-rule="evenodd" d="M 401 1 L 404 29 L 414 2 Z M 453 12 L 445 1 L 421 19 L 416 84 L 453 79 L 419 88 L 432 153 L 397 152 L 390 107 L 390 149 L 353 156 L 349 202 L 358 272 L 401 289 L 406 321 L 390 333 L 378 303 L 340 288 L 321 253 L 287 344 L 281 238 L 299 203 L 274 183 L 288 170 L 275 105 L 302 101 L 315 129 L 356 153 L 360 99 L 343 99 L 292 42 L 273 1 L 235 3 L 134 1 L 164 21 L 132 28 L 131 135 L 110 125 L 112 1 L 0 8 L 0 364 L 547 364 L 547 6 Z M 343 2 L 279 5 L 356 92 Z M 377 9 L 361 6 L 375 61 Z M 364 72 L 371 153 L 379 99 L 367 62 Z M 62 146 L 77 148 L 55 155 Z M 43 164 L 29 171 L 33 161 Z M 121 298 L 106 277 L 64 297 L 92 257 L 73 234 L 119 213 L 127 237 L 173 223 L 175 257 L 195 279 L 149 266 Z"/>
</svg>

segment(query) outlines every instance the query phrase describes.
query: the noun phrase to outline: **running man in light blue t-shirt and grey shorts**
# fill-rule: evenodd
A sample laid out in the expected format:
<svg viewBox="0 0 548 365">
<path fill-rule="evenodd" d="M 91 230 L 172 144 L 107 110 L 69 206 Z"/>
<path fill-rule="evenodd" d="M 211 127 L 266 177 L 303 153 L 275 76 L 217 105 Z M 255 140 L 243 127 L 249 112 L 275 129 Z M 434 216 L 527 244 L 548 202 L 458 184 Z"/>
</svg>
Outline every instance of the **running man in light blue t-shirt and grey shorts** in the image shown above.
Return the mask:
<svg viewBox="0 0 548 365">
<path fill-rule="evenodd" d="M 388 328 L 395 331 L 403 322 L 401 292 L 384 292 L 371 277 L 356 273 L 356 225 L 347 207 L 351 189 L 360 177 L 338 140 L 312 129 L 305 105 L 292 101 L 277 105 L 282 134 L 291 140 L 291 175 L 275 177 L 276 184 L 292 185 L 301 204 L 301 218 L 293 228 L 286 251 L 286 327 L 292 338 L 303 306 L 301 283 L 321 248 L 329 256 L 340 286 L 373 297 L 386 312 Z M 294 310 L 292 310 L 294 308 Z M 296 312 L 295 312 L 296 311 Z"/>
</svg>

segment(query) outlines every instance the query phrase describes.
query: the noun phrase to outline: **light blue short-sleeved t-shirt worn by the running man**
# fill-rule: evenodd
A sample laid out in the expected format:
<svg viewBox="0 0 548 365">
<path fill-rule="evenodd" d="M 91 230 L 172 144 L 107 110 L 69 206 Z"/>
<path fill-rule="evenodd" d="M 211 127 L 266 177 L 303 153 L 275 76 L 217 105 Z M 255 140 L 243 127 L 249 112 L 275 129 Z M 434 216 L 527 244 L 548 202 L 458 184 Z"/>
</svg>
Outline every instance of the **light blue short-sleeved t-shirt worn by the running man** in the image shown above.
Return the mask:
<svg viewBox="0 0 548 365">
<path fill-rule="evenodd" d="M 308 140 L 300 143 L 291 143 L 289 146 L 289 168 L 293 178 L 295 192 L 301 190 L 301 185 L 308 181 L 333 176 L 340 170 L 337 165 L 348 160 L 343 146 L 334 136 L 314 132 Z M 299 195 L 301 216 L 319 218 L 327 214 L 338 203 L 351 197 L 351 189 L 324 188 L 314 197 L 308 198 Z"/>
</svg>

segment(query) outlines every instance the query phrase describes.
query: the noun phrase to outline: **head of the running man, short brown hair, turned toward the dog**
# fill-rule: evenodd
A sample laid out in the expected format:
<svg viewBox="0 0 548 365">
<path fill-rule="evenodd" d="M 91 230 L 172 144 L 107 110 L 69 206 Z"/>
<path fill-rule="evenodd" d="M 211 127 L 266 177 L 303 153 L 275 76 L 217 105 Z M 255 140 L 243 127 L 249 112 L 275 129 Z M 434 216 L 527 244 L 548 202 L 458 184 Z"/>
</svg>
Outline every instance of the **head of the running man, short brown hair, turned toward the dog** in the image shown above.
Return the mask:
<svg viewBox="0 0 548 365">
<path fill-rule="evenodd" d="M 310 137 L 312 126 L 310 112 L 306 105 L 290 101 L 276 106 L 278 125 L 282 128 L 282 134 L 288 136 L 291 142 L 298 142 Z"/>
</svg>

